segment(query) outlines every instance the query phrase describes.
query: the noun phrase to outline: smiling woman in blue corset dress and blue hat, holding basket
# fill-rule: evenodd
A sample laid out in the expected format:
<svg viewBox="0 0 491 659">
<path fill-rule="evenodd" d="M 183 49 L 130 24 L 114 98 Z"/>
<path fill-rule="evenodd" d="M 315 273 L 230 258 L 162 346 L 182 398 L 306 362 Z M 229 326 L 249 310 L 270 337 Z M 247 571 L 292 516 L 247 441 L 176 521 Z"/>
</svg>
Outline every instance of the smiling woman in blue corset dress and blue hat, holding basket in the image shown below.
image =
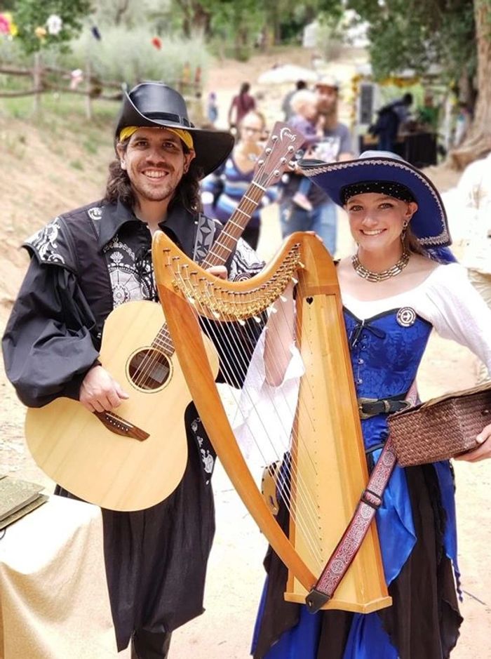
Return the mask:
<svg viewBox="0 0 491 659">
<path fill-rule="evenodd" d="M 464 268 L 441 259 L 450 253 L 433 250 L 448 245 L 450 235 L 431 181 L 387 152 L 366 152 L 344 163 L 306 164 L 304 172 L 347 211 L 358 244 L 356 254 L 337 265 L 358 398 L 397 407 L 416 378 L 432 328 L 471 348 L 491 369 L 491 312 Z M 281 323 L 280 316 L 274 314 L 270 322 Z M 284 330 L 284 324 L 276 329 Z M 266 334 L 267 370 L 276 335 Z M 281 374 L 276 373 L 269 384 L 277 382 Z M 361 425 L 370 467 L 389 432 L 386 413 L 375 408 L 368 413 Z M 491 425 L 478 441 L 476 450 L 459 459 L 490 458 Z M 462 623 L 450 463 L 397 465 L 376 519 L 392 606 L 365 615 L 310 615 L 305 606 L 283 601 L 286 570 L 269 552 L 255 659 L 449 657 Z"/>
</svg>

